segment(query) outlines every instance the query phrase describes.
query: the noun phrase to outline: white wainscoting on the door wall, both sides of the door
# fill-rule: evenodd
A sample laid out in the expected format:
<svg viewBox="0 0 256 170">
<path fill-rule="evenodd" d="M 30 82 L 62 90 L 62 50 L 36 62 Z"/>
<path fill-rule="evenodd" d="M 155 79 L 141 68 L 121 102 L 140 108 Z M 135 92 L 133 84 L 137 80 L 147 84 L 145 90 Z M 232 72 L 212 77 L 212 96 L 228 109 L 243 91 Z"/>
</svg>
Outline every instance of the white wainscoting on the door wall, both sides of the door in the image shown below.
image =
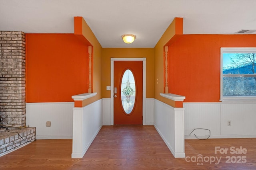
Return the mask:
<svg viewBox="0 0 256 170">
<path fill-rule="evenodd" d="M 103 98 L 103 125 L 111 125 L 110 98 Z M 143 117 L 144 125 L 154 124 L 154 98 L 146 98 L 146 114 Z"/>
</svg>

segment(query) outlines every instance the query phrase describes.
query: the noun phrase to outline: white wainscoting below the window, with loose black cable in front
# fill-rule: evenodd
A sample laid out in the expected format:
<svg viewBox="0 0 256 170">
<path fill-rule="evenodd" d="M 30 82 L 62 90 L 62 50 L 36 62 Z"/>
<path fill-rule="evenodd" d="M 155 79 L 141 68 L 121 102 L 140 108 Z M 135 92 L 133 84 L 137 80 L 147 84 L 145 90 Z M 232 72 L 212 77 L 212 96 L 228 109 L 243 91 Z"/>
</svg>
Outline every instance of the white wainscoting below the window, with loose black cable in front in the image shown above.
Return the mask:
<svg viewBox="0 0 256 170">
<path fill-rule="evenodd" d="M 185 139 L 256 137 L 256 102 L 183 103 Z M 231 121 L 231 126 L 228 126 Z"/>
</svg>

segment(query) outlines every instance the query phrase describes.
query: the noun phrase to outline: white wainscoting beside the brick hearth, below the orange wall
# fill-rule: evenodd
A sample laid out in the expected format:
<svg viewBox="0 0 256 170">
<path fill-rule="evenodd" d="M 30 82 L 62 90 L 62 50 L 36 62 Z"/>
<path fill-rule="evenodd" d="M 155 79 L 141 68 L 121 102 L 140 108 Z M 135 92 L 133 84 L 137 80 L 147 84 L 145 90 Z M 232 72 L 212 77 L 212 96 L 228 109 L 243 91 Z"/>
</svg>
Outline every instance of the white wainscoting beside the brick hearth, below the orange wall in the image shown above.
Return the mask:
<svg viewBox="0 0 256 170">
<path fill-rule="evenodd" d="M 74 102 L 26 103 L 26 125 L 36 127 L 36 139 L 72 139 L 73 107 Z"/>
</svg>

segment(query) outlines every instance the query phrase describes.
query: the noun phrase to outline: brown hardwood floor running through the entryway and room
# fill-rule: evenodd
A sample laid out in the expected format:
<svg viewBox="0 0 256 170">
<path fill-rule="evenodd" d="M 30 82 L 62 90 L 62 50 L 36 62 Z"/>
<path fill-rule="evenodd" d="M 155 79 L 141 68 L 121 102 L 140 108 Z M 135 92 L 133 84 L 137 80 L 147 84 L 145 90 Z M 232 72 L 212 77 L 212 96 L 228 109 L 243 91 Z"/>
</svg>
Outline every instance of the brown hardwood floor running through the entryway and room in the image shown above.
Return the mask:
<svg viewBox="0 0 256 170">
<path fill-rule="evenodd" d="M 36 140 L 0 157 L 0 170 L 256 170 L 256 138 L 187 139 L 186 158 L 174 158 L 154 126 L 103 126 L 83 158 L 71 153 L 71 139 Z"/>
</svg>

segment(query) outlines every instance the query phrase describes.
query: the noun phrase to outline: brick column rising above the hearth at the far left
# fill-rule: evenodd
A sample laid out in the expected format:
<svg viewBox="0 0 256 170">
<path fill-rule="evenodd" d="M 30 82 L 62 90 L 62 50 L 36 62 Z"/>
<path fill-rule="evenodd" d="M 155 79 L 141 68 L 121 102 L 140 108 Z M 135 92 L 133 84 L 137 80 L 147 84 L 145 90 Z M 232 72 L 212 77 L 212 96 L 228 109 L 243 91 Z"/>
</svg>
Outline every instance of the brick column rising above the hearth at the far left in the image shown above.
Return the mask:
<svg viewBox="0 0 256 170">
<path fill-rule="evenodd" d="M 25 33 L 0 31 L 0 124 L 25 126 Z"/>
</svg>

